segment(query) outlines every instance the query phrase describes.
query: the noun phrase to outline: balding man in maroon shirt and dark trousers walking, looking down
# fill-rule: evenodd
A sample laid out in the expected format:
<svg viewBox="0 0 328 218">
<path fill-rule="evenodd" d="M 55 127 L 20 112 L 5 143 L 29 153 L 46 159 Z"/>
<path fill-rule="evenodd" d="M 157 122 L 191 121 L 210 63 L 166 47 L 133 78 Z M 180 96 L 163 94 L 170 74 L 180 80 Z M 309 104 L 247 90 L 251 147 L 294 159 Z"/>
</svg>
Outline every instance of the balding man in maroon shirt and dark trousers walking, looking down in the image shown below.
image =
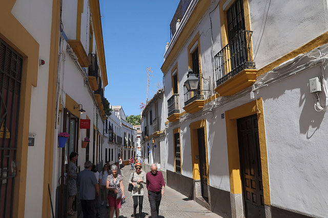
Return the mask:
<svg viewBox="0 0 328 218">
<path fill-rule="evenodd" d="M 163 174 L 157 171 L 157 165 L 151 166 L 151 171 L 146 174 L 146 184 L 148 189 L 148 199 L 152 218 L 157 218 L 159 213 L 159 204 L 164 195 L 165 182 Z"/>
</svg>

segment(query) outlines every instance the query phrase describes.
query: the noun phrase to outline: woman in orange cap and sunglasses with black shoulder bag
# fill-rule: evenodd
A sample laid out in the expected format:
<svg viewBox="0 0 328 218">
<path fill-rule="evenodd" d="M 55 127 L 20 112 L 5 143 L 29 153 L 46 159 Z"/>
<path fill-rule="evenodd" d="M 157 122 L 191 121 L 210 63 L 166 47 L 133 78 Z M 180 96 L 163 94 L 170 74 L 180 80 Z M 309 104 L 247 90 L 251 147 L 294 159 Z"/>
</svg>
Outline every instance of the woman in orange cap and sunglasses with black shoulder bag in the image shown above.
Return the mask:
<svg viewBox="0 0 328 218">
<path fill-rule="evenodd" d="M 144 201 L 144 184 L 146 183 L 146 174 L 141 171 L 141 163 L 135 164 L 135 172 L 131 173 L 129 183 L 133 185 L 132 198 L 133 198 L 133 216 L 137 215 L 137 206 L 139 201 L 138 218 L 142 213 L 142 202 Z M 132 216 L 132 215 L 131 215 Z"/>
</svg>

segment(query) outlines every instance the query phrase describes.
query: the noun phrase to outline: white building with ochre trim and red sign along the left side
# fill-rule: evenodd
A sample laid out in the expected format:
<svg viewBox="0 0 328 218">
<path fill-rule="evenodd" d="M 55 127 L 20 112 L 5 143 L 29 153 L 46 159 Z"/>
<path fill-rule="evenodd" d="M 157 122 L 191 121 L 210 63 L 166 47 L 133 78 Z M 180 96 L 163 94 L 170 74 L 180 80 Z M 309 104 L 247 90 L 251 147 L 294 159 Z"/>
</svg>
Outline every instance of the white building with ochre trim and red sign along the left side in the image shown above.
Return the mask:
<svg viewBox="0 0 328 218">
<path fill-rule="evenodd" d="M 86 160 L 101 160 L 108 81 L 99 2 L 8 1 L 0 8 L 0 178 L 8 193 L 0 216 L 66 216 L 70 153 L 78 153 L 78 172 Z M 61 132 L 70 134 L 64 148 Z"/>
</svg>

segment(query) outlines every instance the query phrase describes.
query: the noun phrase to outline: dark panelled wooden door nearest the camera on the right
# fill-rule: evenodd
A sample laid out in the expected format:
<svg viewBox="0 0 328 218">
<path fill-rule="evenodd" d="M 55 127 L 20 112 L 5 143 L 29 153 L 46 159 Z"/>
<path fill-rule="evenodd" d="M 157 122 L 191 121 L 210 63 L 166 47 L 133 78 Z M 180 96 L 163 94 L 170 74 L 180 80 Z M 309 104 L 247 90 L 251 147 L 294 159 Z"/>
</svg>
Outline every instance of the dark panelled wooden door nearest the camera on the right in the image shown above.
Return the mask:
<svg viewBox="0 0 328 218">
<path fill-rule="evenodd" d="M 257 115 L 237 120 L 245 217 L 265 217 Z"/>
</svg>

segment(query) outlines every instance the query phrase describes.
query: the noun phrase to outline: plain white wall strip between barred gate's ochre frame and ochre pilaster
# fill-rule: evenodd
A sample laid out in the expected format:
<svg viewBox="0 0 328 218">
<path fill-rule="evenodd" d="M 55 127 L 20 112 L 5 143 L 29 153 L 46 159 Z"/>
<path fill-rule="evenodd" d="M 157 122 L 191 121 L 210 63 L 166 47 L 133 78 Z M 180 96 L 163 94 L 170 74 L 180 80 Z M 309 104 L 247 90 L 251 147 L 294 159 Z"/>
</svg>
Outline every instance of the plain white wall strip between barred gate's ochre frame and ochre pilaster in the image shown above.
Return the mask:
<svg viewBox="0 0 328 218">
<path fill-rule="evenodd" d="M 26 199 L 29 200 L 25 201 L 25 217 L 41 217 L 39 206 L 42 205 L 44 184 L 52 1 L 16 1 L 11 13 L 39 43 L 39 58 L 46 62 L 38 67 L 37 87 L 31 90 L 29 132 L 36 135 L 34 146 L 28 147 Z"/>
</svg>

